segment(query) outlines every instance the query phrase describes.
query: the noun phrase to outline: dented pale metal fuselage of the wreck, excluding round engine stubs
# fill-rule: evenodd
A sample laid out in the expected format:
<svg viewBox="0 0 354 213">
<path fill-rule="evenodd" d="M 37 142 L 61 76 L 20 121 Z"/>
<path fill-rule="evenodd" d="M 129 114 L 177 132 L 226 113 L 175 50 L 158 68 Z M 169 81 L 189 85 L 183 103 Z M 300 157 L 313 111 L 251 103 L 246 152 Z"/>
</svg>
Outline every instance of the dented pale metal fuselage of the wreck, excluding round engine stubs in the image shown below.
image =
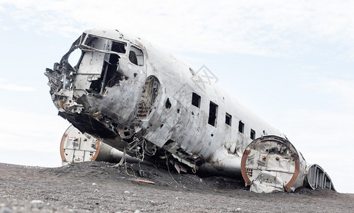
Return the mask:
<svg viewBox="0 0 354 213">
<path fill-rule="evenodd" d="M 189 65 L 120 31 L 84 31 L 45 75 L 60 116 L 140 159 L 240 177 L 255 138 L 284 138 Z"/>
</svg>

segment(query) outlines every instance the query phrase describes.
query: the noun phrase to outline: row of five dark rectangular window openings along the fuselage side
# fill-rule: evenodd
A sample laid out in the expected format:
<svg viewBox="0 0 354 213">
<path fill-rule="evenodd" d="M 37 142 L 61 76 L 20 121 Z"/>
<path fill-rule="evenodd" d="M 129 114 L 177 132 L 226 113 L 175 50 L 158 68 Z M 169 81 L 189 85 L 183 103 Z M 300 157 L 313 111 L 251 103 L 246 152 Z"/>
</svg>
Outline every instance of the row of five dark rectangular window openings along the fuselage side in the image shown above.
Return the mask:
<svg viewBox="0 0 354 213">
<path fill-rule="evenodd" d="M 198 94 L 192 92 L 192 105 L 200 108 L 200 100 L 201 100 L 201 97 Z M 219 106 L 217 104 L 215 104 L 214 102 L 210 102 L 210 104 L 209 104 L 208 124 L 210 124 L 211 126 L 216 126 L 218 107 Z M 231 126 L 231 120 L 232 120 L 231 114 L 228 114 L 226 112 L 225 124 L 228 124 L 228 126 Z M 238 131 L 240 133 L 244 133 L 244 131 L 245 131 L 245 124 L 243 124 L 242 121 L 238 121 Z M 253 129 L 250 129 L 250 138 L 253 140 L 255 139 L 255 131 Z"/>
</svg>

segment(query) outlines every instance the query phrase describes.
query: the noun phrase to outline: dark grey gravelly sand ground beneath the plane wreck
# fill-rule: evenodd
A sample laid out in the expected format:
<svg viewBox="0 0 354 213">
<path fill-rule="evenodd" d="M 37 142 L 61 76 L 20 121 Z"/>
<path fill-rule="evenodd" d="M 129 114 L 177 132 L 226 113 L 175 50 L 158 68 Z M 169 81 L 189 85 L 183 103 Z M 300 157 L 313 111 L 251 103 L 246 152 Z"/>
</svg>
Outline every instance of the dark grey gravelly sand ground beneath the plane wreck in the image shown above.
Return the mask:
<svg viewBox="0 0 354 213">
<path fill-rule="evenodd" d="M 0 163 L 0 213 L 354 211 L 354 194 L 307 188 L 257 194 L 249 192 L 243 181 L 231 178 L 114 165 L 86 162 L 40 168 Z"/>
</svg>

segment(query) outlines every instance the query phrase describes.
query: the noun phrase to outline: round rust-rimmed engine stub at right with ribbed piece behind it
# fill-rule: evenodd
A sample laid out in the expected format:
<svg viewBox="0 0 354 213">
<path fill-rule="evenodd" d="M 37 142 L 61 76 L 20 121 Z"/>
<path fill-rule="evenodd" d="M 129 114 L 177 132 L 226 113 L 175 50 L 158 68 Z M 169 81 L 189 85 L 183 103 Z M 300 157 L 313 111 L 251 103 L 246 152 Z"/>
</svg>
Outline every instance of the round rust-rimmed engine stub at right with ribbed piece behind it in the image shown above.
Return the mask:
<svg viewBox="0 0 354 213">
<path fill-rule="evenodd" d="M 314 190 L 326 186 L 334 190 L 328 175 L 321 175 L 314 165 L 306 165 L 292 143 L 279 136 L 262 136 L 251 142 L 241 159 L 241 173 L 252 192 L 294 192 L 307 185 Z"/>
</svg>

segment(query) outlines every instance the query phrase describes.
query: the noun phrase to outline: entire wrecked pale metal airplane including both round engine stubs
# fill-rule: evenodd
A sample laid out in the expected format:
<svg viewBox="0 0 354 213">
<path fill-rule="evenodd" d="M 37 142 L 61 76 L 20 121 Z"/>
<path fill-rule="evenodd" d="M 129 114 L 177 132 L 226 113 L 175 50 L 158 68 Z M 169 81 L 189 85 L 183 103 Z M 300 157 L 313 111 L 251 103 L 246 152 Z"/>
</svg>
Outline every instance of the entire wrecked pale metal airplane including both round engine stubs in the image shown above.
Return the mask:
<svg viewBox="0 0 354 213">
<path fill-rule="evenodd" d="M 70 55 L 78 52 L 78 61 Z M 243 178 L 253 192 L 297 187 L 335 190 L 284 134 L 255 116 L 199 71 L 146 40 L 88 30 L 47 69 L 65 132 L 63 163 L 111 160 L 123 152 L 178 171 Z"/>
</svg>

